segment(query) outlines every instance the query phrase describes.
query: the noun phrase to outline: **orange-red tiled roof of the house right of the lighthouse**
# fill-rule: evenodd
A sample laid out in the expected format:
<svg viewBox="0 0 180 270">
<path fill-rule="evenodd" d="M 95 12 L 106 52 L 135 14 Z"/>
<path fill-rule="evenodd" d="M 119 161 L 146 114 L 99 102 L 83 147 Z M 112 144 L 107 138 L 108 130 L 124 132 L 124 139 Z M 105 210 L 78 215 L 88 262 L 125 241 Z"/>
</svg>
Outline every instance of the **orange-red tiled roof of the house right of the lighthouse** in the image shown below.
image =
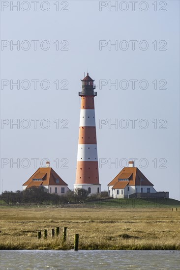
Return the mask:
<svg viewBox="0 0 180 270">
<path fill-rule="evenodd" d="M 130 176 L 129 178 L 121 178 L 124 177 L 124 175 Z M 142 186 L 153 186 L 137 167 L 124 167 L 108 186 L 114 186 L 117 182 L 120 182 L 119 179 L 129 179 L 129 186 L 140 186 L 141 184 Z"/>
</svg>

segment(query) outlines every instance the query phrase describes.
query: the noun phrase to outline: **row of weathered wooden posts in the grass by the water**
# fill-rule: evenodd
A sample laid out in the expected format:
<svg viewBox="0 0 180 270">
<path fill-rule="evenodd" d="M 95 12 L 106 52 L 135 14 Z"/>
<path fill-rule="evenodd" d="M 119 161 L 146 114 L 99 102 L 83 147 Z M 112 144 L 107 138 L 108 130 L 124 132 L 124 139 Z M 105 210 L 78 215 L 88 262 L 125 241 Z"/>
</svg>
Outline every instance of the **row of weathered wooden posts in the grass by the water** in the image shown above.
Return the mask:
<svg viewBox="0 0 180 270">
<path fill-rule="evenodd" d="M 51 237 L 55 237 L 55 232 L 56 232 L 56 237 L 60 235 L 60 227 L 56 227 L 56 229 L 51 229 Z M 46 239 L 48 236 L 48 230 L 44 229 L 44 239 Z M 41 239 L 41 231 L 37 232 L 37 238 Z M 63 228 L 63 235 L 62 235 L 62 241 L 65 243 L 67 238 L 67 227 Z M 78 250 L 78 244 L 79 244 L 79 234 L 75 234 L 74 236 L 74 250 Z"/>
</svg>

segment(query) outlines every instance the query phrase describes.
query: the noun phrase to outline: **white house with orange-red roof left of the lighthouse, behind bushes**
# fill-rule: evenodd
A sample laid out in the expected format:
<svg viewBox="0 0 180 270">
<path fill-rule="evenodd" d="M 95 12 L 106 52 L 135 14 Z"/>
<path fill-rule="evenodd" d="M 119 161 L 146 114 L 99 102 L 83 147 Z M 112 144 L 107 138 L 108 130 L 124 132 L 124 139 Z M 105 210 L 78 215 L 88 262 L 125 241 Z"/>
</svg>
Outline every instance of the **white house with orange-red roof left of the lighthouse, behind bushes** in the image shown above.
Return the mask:
<svg viewBox="0 0 180 270">
<path fill-rule="evenodd" d="M 58 195 L 65 194 L 70 190 L 68 185 L 49 165 L 50 163 L 47 162 L 47 167 L 38 168 L 30 179 L 23 184 L 23 189 L 43 186 L 48 189 L 49 193 L 56 193 Z"/>
</svg>

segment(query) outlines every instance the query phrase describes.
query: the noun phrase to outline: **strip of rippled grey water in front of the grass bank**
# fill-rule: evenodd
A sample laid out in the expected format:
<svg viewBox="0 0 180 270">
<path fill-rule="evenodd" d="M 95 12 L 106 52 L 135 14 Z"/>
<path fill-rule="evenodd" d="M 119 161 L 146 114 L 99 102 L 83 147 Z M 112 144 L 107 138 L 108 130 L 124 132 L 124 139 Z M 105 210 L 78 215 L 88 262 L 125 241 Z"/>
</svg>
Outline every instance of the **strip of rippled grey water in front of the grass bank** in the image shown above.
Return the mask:
<svg viewBox="0 0 180 270">
<path fill-rule="evenodd" d="M 179 270 L 179 251 L 2 250 L 0 270 Z"/>
</svg>

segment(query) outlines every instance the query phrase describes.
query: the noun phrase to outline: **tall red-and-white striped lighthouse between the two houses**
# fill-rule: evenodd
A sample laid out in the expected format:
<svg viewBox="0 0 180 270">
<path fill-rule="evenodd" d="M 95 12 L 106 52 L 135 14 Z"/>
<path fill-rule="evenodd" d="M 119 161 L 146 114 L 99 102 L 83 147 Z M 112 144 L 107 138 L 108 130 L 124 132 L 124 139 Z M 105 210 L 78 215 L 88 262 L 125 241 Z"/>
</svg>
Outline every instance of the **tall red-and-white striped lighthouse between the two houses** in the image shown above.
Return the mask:
<svg viewBox="0 0 180 270">
<path fill-rule="evenodd" d="M 94 80 L 90 78 L 89 73 L 81 81 L 82 91 L 79 92 L 81 112 L 74 189 L 86 189 L 89 194 L 94 194 L 101 192 L 94 111 L 94 97 L 97 92 L 94 92 Z"/>
</svg>

